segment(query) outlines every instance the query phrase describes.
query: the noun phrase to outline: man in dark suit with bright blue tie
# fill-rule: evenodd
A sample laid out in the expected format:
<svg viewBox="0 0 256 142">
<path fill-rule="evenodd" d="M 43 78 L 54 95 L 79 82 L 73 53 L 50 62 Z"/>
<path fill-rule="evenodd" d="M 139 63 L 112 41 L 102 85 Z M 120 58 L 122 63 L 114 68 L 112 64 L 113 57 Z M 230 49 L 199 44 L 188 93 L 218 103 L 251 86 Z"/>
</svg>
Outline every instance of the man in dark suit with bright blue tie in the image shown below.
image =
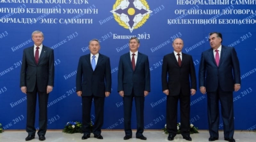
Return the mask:
<svg viewBox="0 0 256 142">
<path fill-rule="evenodd" d="M 91 106 L 95 106 L 95 122 L 92 133 L 94 138 L 103 139 L 101 127 L 105 97 L 111 92 L 110 59 L 99 53 L 100 42 L 92 39 L 89 42 L 90 54 L 81 56 L 76 74 L 76 93 L 82 97 L 82 139 L 90 138 Z"/>
</svg>

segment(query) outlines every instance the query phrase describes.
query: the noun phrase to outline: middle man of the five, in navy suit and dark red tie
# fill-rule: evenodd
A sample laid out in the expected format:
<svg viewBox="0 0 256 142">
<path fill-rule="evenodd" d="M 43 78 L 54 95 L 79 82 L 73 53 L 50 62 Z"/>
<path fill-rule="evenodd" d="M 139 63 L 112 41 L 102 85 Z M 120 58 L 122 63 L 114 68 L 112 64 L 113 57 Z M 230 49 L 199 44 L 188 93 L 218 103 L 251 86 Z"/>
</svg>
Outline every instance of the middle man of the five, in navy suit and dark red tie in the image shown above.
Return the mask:
<svg viewBox="0 0 256 142">
<path fill-rule="evenodd" d="M 150 92 L 150 70 L 148 56 L 138 52 L 140 41 L 137 37 L 129 40 L 130 52 L 120 57 L 118 66 L 117 91 L 124 101 L 124 140 L 132 138 L 131 115 L 134 98 L 137 117 L 136 138 L 146 140 L 144 131 L 144 101 Z"/>
</svg>

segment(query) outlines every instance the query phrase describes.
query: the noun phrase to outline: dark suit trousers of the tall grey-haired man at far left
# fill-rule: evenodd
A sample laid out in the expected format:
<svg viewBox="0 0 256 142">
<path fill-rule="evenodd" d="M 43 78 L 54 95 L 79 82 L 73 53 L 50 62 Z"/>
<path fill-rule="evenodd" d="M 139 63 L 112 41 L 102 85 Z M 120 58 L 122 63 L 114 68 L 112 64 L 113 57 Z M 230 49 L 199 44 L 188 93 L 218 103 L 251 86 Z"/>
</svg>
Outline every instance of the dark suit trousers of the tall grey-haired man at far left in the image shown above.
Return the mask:
<svg viewBox="0 0 256 142">
<path fill-rule="evenodd" d="M 46 87 L 45 87 L 46 91 Z M 39 104 L 39 130 L 37 134 L 45 135 L 47 130 L 47 103 L 49 94 L 37 91 L 37 86 L 33 92 L 27 92 L 27 126 L 26 131 L 29 135 L 35 135 L 35 114 L 36 114 L 36 98 L 38 94 Z"/>
</svg>

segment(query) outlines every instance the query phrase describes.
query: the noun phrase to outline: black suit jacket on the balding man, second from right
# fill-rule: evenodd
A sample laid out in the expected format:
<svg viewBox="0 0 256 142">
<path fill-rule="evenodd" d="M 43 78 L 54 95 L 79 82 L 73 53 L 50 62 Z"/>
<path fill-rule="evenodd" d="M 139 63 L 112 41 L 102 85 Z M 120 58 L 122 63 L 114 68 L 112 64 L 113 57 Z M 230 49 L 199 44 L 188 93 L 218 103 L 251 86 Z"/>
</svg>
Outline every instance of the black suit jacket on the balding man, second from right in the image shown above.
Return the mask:
<svg viewBox="0 0 256 142">
<path fill-rule="evenodd" d="M 190 88 L 196 90 L 196 72 L 192 56 L 182 53 L 180 67 L 173 52 L 165 55 L 162 66 L 163 91 L 169 89 L 169 95 L 171 96 L 179 95 L 180 90 L 182 94 L 190 95 Z"/>
</svg>

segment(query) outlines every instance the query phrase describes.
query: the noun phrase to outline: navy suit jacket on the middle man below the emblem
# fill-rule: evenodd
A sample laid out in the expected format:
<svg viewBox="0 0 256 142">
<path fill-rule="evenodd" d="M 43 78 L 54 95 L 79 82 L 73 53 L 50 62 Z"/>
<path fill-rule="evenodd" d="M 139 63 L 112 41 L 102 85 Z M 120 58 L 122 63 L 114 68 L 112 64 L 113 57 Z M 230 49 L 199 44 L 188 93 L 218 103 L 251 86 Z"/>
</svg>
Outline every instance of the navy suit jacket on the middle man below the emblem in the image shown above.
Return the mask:
<svg viewBox="0 0 256 142">
<path fill-rule="evenodd" d="M 130 52 L 122 55 L 119 60 L 117 91 L 124 91 L 124 95 L 131 95 L 132 88 L 135 96 L 144 96 L 144 91 L 150 92 L 148 56 L 140 52 L 138 52 L 134 71 Z"/>
</svg>

